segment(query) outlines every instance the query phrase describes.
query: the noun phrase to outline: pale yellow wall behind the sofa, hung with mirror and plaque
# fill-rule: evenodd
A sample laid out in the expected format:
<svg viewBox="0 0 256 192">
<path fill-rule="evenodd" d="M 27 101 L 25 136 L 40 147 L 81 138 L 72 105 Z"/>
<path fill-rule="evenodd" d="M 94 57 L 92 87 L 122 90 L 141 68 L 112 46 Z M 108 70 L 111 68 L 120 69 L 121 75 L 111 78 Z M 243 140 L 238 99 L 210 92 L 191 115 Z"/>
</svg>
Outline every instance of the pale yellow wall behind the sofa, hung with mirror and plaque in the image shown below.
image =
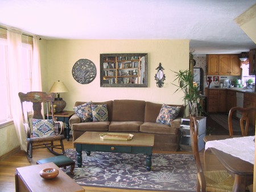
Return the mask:
<svg viewBox="0 0 256 192">
<path fill-rule="evenodd" d="M 113 99 L 183 104 L 183 93 L 174 93 L 177 87 L 172 85 L 175 73 L 171 70 L 188 69 L 189 40 L 43 40 L 44 43 L 47 45 L 42 55 L 47 59 L 42 61 L 43 91 L 49 91 L 53 82 L 63 81 L 69 89 L 60 94 L 67 102 L 65 110 L 73 110 L 76 101 Z M 100 87 L 101 53 L 148 53 L 148 87 Z M 90 84 L 79 84 L 72 76 L 72 67 L 79 59 L 89 59 L 96 65 L 97 76 Z M 159 62 L 166 74 L 162 88 L 156 87 L 154 80 Z"/>
</svg>

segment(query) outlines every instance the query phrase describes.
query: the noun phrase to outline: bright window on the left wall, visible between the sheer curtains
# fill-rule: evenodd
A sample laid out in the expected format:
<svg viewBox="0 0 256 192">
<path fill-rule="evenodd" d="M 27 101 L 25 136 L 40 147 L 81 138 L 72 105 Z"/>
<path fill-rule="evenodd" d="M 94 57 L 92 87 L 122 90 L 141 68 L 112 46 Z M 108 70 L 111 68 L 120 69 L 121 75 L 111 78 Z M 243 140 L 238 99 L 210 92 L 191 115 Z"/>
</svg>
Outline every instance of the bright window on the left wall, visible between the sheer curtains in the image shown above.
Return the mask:
<svg viewBox="0 0 256 192">
<path fill-rule="evenodd" d="M 31 91 L 32 45 L 22 43 L 22 92 Z M 0 123 L 12 119 L 9 101 L 7 40 L 0 38 Z"/>
</svg>

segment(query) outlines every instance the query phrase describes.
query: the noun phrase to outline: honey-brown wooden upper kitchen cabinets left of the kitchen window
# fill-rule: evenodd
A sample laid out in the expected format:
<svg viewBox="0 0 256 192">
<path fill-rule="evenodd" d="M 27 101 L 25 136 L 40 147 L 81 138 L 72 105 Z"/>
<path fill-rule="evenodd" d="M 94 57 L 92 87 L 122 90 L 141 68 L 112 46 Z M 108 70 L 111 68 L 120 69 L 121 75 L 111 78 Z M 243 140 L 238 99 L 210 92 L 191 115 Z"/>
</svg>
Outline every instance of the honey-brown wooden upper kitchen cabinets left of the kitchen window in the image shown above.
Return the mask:
<svg viewBox="0 0 256 192">
<path fill-rule="evenodd" d="M 237 55 L 207 55 L 208 75 L 240 76 L 240 60 Z"/>
</svg>

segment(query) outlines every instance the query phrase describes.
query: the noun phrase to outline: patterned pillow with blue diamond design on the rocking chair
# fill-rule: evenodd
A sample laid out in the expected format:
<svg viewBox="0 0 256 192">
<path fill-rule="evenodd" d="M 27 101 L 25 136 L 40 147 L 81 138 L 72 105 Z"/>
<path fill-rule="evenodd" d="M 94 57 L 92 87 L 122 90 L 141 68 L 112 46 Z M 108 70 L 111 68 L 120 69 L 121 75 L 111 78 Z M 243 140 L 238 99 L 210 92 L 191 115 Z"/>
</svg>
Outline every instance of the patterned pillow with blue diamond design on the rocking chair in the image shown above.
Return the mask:
<svg viewBox="0 0 256 192">
<path fill-rule="evenodd" d="M 52 119 L 32 119 L 32 137 L 54 136 L 54 123 Z"/>
</svg>

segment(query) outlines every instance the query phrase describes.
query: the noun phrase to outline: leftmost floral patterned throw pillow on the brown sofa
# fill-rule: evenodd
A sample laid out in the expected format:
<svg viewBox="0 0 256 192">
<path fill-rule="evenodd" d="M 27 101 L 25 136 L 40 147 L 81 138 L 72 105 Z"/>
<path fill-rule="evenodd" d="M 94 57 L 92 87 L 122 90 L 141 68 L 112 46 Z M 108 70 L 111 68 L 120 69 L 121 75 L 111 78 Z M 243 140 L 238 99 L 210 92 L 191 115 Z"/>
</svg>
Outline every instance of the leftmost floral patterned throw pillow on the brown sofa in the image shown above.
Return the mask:
<svg viewBox="0 0 256 192">
<path fill-rule="evenodd" d="M 87 102 L 82 105 L 74 107 L 75 114 L 81 118 L 81 122 L 91 122 L 92 121 L 92 102 Z"/>
</svg>

